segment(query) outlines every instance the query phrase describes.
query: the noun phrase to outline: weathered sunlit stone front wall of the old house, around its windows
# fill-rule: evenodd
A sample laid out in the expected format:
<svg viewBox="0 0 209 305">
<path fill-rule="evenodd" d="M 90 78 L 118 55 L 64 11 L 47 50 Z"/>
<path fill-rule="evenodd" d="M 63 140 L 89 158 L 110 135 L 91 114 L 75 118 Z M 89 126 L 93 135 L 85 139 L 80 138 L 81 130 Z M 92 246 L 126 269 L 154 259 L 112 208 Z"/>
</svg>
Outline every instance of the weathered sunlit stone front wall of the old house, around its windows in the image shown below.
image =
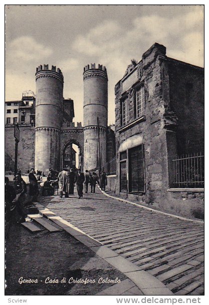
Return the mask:
<svg viewBox="0 0 209 305">
<path fill-rule="evenodd" d="M 131 139 L 133 135 L 143 138 L 144 168 L 145 168 L 145 192 L 141 194 L 142 201 L 159 201 L 162 192 L 166 192 L 168 185 L 168 163 L 167 163 L 167 130 L 164 124 L 165 104 L 168 103 L 168 91 L 165 86 L 166 71 L 164 62 L 157 56 L 164 49 L 158 45 L 150 48 L 150 52 L 143 55 L 143 60 L 138 64 L 141 75 L 138 83 L 132 86 L 125 94 L 128 98 L 128 124 L 130 127 L 121 126 L 121 86 L 115 87 L 116 93 L 116 151 L 122 142 Z M 155 50 L 157 49 L 157 50 Z M 147 58 L 148 57 L 148 58 Z M 140 86 L 144 87 L 145 112 L 141 118 L 135 116 L 135 96 Z M 125 95 L 123 94 L 123 95 Z M 134 123 L 136 120 L 136 123 Z M 132 124 L 133 123 L 133 124 Z M 134 144 L 133 144 L 134 145 Z M 119 153 L 117 154 L 117 176 L 119 177 Z M 128 174 L 127 174 L 128 180 Z M 119 193 L 119 183 L 116 192 Z"/>
</svg>

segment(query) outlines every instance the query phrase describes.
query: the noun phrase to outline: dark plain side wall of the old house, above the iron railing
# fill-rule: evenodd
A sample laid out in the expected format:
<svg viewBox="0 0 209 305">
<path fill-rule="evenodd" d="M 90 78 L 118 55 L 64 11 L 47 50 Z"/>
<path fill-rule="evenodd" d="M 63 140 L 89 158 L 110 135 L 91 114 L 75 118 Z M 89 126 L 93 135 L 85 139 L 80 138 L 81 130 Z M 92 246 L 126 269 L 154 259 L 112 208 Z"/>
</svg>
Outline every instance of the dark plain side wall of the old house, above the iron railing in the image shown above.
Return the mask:
<svg viewBox="0 0 209 305">
<path fill-rule="evenodd" d="M 178 118 L 177 153 L 204 150 L 204 72 L 202 68 L 169 61 L 170 108 Z"/>
</svg>

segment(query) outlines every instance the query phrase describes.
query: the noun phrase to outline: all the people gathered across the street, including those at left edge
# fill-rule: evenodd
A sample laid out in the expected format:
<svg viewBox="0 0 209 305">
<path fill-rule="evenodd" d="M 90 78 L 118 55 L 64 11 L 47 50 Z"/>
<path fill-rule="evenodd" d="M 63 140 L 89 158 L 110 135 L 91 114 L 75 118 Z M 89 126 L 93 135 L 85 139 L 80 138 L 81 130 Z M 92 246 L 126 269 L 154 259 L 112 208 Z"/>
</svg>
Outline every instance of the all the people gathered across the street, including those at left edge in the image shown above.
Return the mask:
<svg viewBox="0 0 209 305">
<path fill-rule="evenodd" d="M 9 184 L 9 178 L 5 177 L 5 201 L 6 201 L 6 223 L 9 223 L 12 219 L 16 222 L 25 222 L 27 218 L 26 193 L 27 187 L 25 181 L 22 179 L 21 171 L 14 178 L 14 187 Z M 69 194 L 74 194 L 74 187 L 76 185 L 78 198 L 83 197 L 83 187 L 85 186 L 85 193 L 88 193 L 88 187 L 91 187 L 91 193 L 95 193 L 96 184 L 99 184 L 101 190 L 105 191 L 106 174 L 101 172 L 100 177 L 93 172 L 85 171 L 85 174 L 80 169 L 74 171 L 70 169 L 63 169 L 60 173 L 50 169 L 47 181 L 44 182 L 43 192 L 46 195 L 54 195 L 55 184 L 59 186 L 60 197 L 69 197 Z M 29 195 L 30 201 L 37 201 L 39 195 L 38 179 L 35 176 L 35 169 L 31 169 L 29 173 Z M 44 193 L 42 192 L 42 195 Z"/>
</svg>

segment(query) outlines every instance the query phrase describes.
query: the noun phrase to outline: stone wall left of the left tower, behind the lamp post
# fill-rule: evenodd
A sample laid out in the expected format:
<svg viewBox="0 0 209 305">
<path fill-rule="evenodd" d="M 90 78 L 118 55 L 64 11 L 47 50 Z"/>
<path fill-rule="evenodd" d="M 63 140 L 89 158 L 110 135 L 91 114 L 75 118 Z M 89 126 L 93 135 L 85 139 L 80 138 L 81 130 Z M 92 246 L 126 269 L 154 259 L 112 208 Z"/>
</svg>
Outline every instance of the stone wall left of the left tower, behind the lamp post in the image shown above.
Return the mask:
<svg viewBox="0 0 209 305">
<path fill-rule="evenodd" d="M 27 173 L 35 163 L 35 127 L 20 125 L 20 142 L 18 144 L 18 169 Z M 14 172 L 15 137 L 14 126 L 5 126 L 6 165 L 5 170 Z"/>
</svg>

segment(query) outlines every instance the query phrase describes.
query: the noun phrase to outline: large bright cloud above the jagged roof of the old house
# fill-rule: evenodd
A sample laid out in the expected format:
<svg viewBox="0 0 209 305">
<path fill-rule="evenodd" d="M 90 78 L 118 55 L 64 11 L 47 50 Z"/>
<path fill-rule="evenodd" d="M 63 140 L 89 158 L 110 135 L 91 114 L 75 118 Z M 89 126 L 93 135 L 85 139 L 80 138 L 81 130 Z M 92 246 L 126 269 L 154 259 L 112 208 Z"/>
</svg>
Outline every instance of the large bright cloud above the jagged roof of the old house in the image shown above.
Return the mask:
<svg viewBox="0 0 209 305">
<path fill-rule="evenodd" d="M 121 70 L 133 57 L 140 60 L 143 52 L 155 42 L 165 45 L 169 53 L 187 54 L 186 62 L 202 65 L 202 40 L 203 13 L 202 8 L 197 7 L 193 12 L 173 18 L 157 15 L 137 17 L 129 30 L 116 21 L 106 20 L 90 29 L 85 36 L 79 35 L 73 48 L 95 60 L 104 60 L 108 70 Z M 182 60 L 182 56 L 176 59 Z"/>
</svg>

